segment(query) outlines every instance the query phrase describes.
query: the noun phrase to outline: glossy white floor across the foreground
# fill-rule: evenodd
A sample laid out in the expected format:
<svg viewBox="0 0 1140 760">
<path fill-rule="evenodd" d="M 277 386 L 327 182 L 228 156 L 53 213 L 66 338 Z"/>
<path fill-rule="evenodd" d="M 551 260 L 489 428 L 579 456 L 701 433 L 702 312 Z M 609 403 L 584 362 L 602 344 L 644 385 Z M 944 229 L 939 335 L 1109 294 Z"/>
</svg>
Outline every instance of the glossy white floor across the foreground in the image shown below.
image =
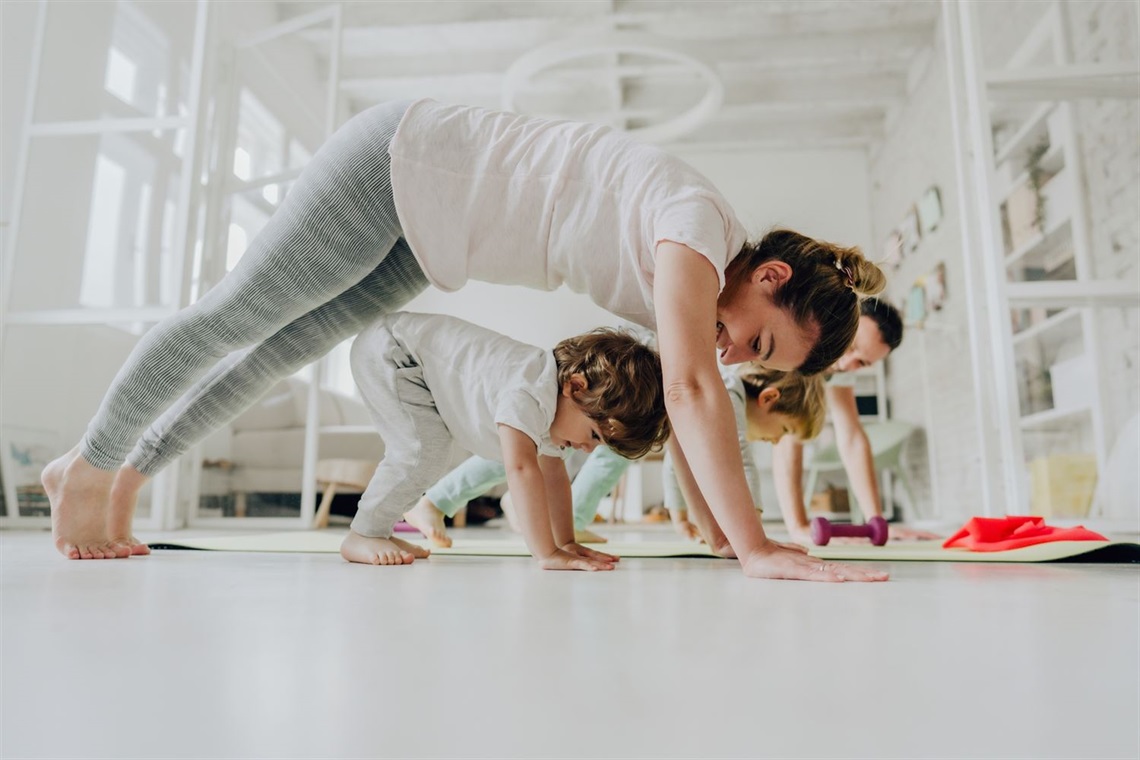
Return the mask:
<svg viewBox="0 0 1140 760">
<path fill-rule="evenodd" d="M 5 759 L 1140 755 L 1135 565 L 0 550 Z"/>
</svg>

